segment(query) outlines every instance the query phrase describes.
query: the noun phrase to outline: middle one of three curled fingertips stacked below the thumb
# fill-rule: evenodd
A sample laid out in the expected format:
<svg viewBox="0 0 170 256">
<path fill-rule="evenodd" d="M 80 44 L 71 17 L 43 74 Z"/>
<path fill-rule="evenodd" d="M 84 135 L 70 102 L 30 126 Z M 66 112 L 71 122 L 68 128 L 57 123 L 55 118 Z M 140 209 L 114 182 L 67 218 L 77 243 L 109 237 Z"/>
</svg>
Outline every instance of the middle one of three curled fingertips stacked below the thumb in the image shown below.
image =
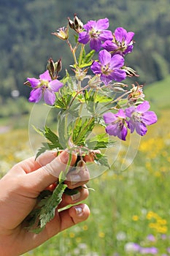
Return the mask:
<svg viewBox="0 0 170 256">
<path fill-rule="evenodd" d="M 77 189 L 74 190 L 74 195 L 63 194 L 63 200 L 61 201 L 58 208 L 63 208 L 70 204 L 79 203 L 88 197 L 88 187 L 86 187 L 85 185 L 83 187 L 78 187 Z"/>
</svg>

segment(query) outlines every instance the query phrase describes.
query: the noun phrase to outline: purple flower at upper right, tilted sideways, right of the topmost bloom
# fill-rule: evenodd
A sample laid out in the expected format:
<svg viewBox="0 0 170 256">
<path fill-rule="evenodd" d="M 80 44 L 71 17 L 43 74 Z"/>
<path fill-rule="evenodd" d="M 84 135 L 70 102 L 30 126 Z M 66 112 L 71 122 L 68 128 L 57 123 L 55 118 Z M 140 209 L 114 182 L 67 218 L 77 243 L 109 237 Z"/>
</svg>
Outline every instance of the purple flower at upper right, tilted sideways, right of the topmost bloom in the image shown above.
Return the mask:
<svg viewBox="0 0 170 256">
<path fill-rule="evenodd" d="M 127 32 L 123 28 L 117 28 L 115 29 L 115 34 L 114 34 L 114 39 L 111 40 L 106 40 L 102 47 L 109 52 L 114 54 L 120 54 L 125 56 L 127 53 L 131 53 L 133 50 L 133 37 L 134 37 L 134 32 Z"/>
</svg>

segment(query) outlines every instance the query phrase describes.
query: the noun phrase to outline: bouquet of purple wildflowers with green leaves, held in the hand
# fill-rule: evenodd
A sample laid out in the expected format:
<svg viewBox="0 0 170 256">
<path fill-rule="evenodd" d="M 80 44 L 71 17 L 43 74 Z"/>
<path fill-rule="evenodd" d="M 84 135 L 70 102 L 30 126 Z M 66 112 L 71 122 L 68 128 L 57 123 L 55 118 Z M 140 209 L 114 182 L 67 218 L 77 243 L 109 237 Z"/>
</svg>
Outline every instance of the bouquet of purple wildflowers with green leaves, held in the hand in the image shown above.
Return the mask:
<svg viewBox="0 0 170 256">
<path fill-rule="evenodd" d="M 39 78 L 26 81 L 32 89 L 30 102 L 37 103 L 44 97 L 46 105 L 56 110 L 55 132 L 50 127 L 36 128 L 47 139 L 36 157 L 47 150 L 67 150 L 70 156 L 77 154 L 77 167 L 86 167 L 88 156 L 95 164 L 109 168 L 104 150 L 114 143 L 111 138 L 125 140 L 128 131 L 144 136 L 147 126 L 157 121 L 149 110 L 150 103 L 144 100 L 143 86 L 122 83 L 126 77 L 138 76 L 124 61 L 134 48 L 134 32 L 122 27 L 114 32 L 108 30 L 107 18 L 90 20 L 85 25 L 77 15 L 68 20 L 66 27 L 52 34 L 68 45 L 74 60 L 70 66 L 73 75 L 66 70 L 60 78 L 61 59 L 55 62 L 50 58 Z M 104 132 L 94 135 L 96 127 L 103 127 Z M 37 223 L 36 233 L 53 219 L 67 191 L 64 181 L 68 170 L 61 172 L 53 192 L 40 195 L 38 207 L 31 212 L 29 227 Z"/>
</svg>

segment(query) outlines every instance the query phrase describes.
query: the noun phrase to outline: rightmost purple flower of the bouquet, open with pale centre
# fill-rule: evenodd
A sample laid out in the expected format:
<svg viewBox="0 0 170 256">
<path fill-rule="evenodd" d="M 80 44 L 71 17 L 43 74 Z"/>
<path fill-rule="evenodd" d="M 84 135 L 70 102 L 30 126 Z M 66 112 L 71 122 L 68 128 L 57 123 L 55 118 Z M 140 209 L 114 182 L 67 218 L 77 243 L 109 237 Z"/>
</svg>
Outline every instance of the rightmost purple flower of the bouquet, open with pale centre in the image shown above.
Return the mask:
<svg viewBox="0 0 170 256">
<path fill-rule="evenodd" d="M 134 106 L 126 108 L 125 115 L 130 118 L 128 121 L 128 128 L 131 132 L 136 132 L 143 136 L 147 133 L 147 125 L 155 124 L 157 116 L 153 111 L 147 111 L 150 109 L 150 103 L 144 101 L 136 108 Z"/>
</svg>

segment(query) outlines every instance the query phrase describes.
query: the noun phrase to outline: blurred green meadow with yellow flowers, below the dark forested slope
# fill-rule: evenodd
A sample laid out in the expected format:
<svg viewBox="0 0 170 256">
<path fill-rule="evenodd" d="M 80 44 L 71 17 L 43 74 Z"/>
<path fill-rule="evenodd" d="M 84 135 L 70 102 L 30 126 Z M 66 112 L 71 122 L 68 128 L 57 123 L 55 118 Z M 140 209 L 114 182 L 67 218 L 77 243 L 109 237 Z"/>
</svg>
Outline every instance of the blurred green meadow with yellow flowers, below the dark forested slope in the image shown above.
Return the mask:
<svg viewBox="0 0 170 256">
<path fill-rule="evenodd" d="M 125 157 L 129 137 L 115 148 L 111 170 L 89 181 L 90 217 L 24 256 L 170 255 L 170 76 L 146 86 L 147 99 L 158 114 L 145 138 Z M 16 124 L 12 127 L 12 124 Z M 20 124 L 20 125 L 17 125 Z M 28 114 L 0 121 L 1 176 L 16 162 L 32 156 Z M 130 148 L 131 150 L 131 148 Z M 114 153 L 115 152 L 115 153 Z M 127 168 L 122 168 L 122 164 Z"/>
</svg>

